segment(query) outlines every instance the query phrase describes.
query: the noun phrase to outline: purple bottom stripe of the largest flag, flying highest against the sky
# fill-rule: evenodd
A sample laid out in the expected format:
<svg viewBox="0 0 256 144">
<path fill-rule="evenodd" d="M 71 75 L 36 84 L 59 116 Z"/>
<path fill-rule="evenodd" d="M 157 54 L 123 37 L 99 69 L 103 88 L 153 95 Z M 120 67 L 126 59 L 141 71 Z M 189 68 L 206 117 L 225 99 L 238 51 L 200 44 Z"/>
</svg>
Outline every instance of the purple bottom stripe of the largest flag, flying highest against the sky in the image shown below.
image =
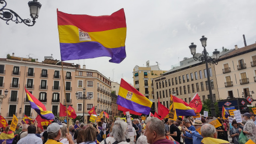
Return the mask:
<svg viewBox="0 0 256 144">
<path fill-rule="evenodd" d="M 110 57 L 109 62 L 120 63 L 126 58 L 125 46 L 104 47 L 99 42 L 60 43 L 61 60 Z"/>
</svg>

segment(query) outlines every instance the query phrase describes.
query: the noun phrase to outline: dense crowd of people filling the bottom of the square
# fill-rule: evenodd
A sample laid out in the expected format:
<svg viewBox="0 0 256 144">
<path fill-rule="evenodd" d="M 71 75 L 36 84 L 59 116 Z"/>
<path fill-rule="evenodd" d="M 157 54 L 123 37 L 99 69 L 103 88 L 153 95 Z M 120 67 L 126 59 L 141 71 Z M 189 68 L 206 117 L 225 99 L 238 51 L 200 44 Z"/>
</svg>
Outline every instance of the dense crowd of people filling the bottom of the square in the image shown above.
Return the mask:
<svg viewBox="0 0 256 144">
<path fill-rule="evenodd" d="M 161 121 L 156 117 L 148 117 L 146 121 L 141 119 L 132 120 L 132 136 L 128 132 L 128 124 L 125 119 L 119 117 L 115 122 L 100 122 L 84 124 L 76 121 L 74 125 L 67 125 L 54 121 L 41 130 L 37 122 L 17 125 L 15 131 L 10 126 L 5 127 L 0 135 L 0 144 L 3 143 L 79 143 L 79 144 L 158 144 L 158 143 L 235 143 L 239 144 L 239 134 L 243 132 L 246 138 L 256 142 L 256 120 L 255 115 L 245 113 L 243 123 L 237 123 L 234 118 L 232 123 L 228 120 L 218 118 L 221 126 L 214 127 L 206 122 L 204 118 L 193 119 L 193 117 L 181 118 L 177 121 L 164 119 Z M 130 124 L 129 124 L 130 125 Z M 200 131 L 198 131 L 198 129 Z M 201 133 L 200 133 L 201 132 Z M 134 136 L 133 136 L 134 135 Z M 228 137 L 232 140 L 228 140 Z"/>
</svg>

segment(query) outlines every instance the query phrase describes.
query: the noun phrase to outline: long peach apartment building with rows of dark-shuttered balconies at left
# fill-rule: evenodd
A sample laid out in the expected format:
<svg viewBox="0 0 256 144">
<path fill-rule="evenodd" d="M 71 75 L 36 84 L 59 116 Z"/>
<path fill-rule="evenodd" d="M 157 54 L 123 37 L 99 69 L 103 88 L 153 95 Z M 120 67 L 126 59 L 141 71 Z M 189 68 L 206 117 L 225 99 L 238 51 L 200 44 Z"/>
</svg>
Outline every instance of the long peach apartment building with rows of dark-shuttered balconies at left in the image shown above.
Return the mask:
<svg viewBox="0 0 256 144">
<path fill-rule="evenodd" d="M 31 109 L 26 97 L 25 89 L 41 101 L 47 110 L 51 110 L 55 116 L 59 115 L 60 103 L 65 103 L 76 110 L 77 115 L 83 115 L 83 100 L 76 98 L 83 95 L 85 87 L 86 95 L 92 97 L 85 100 L 85 119 L 89 122 L 88 111 L 93 106 L 97 107 L 97 114 L 106 111 L 111 117 L 111 81 L 97 70 L 79 68 L 72 63 L 63 62 L 63 74 L 61 62 L 45 59 L 43 62 L 32 62 L 31 59 L 10 57 L 0 59 L 0 95 L 4 97 L 4 91 L 9 91 L 7 97 L 0 102 L 0 114 L 6 121 L 12 121 L 13 114 L 21 122 L 24 115 L 36 117 L 37 113 Z M 62 75 L 64 75 L 65 87 Z"/>
</svg>

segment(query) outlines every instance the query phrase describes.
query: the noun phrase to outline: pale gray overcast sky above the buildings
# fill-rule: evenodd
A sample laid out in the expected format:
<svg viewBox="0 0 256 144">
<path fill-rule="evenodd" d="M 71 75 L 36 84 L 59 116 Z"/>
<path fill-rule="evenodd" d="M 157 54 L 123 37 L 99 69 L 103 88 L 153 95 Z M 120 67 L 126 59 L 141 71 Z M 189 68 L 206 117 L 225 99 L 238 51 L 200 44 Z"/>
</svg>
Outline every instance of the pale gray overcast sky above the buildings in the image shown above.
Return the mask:
<svg viewBox="0 0 256 144">
<path fill-rule="evenodd" d="M 17 12 L 22 19 L 30 18 L 27 0 L 6 0 L 6 9 Z M 199 39 L 207 37 L 207 51 L 243 47 L 243 34 L 247 45 L 256 41 L 256 1 L 66 1 L 38 0 L 42 4 L 33 27 L 0 19 L 0 58 L 13 52 L 17 57 L 30 57 L 43 61 L 44 56 L 60 60 L 57 8 L 70 14 L 110 15 L 124 8 L 127 35 L 126 58 L 119 64 L 101 57 L 66 61 L 86 65 L 110 80 L 120 83 L 123 77 L 133 84 L 133 68 L 160 64 L 170 70 L 184 57 L 191 57 L 188 46 L 203 47 Z M 2 5 L 0 5 L 2 7 Z M 114 71 L 114 77 L 113 77 Z"/>
</svg>

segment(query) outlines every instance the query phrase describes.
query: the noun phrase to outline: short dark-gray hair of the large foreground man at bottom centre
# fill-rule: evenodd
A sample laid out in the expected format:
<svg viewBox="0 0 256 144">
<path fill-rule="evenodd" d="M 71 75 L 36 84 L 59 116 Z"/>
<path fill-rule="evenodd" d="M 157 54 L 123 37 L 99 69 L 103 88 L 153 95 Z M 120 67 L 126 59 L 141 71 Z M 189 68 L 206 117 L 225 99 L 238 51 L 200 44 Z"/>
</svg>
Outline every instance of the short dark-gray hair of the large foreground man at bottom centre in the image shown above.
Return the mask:
<svg viewBox="0 0 256 144">
<path fill-rule="evenodd" d="M 149 131 L 155 131 L 160 137 L 165 136 L 164 123 L 160 119 L 153 117 L 148 121 L 148 124 Z"/>
</svg>

